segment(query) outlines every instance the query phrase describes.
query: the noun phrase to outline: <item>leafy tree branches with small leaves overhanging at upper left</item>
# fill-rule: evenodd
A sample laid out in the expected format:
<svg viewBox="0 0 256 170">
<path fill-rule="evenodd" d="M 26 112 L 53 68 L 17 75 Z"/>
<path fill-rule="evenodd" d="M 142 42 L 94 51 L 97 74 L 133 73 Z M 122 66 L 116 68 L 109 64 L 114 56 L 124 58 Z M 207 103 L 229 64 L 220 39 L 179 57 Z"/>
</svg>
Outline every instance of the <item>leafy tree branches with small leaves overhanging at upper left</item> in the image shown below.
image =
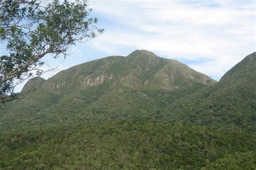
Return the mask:
<svg viewBox="0 0 256 170">
<path fill-rule="evenodd" d="M 70 46 L 104 31 L 89 17 L 86 1 L 42 6 L 36 0 L 6 0 L 0 1 L 0 11 L 0 48 L 6 53 L 0 56 L 0 103 L 16 98 L 16 85 L 44 72 L 43 57 L 65 58 Z"/>
</svg>

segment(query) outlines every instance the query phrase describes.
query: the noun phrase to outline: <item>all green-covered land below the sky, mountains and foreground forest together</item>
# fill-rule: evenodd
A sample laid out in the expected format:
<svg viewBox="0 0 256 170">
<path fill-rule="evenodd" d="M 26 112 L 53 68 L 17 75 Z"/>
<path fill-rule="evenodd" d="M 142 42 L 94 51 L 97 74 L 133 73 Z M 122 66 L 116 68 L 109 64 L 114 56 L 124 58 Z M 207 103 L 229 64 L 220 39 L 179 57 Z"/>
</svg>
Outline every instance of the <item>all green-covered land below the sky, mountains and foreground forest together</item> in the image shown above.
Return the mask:
<svg viewBox="0 0 256 170">
<path fill-rule="evenodd" d="M 33 78 L 0 110 L 0 169 L 255 169 L 255 61 L 216 83 L 137 50 Z"/>
</svg>

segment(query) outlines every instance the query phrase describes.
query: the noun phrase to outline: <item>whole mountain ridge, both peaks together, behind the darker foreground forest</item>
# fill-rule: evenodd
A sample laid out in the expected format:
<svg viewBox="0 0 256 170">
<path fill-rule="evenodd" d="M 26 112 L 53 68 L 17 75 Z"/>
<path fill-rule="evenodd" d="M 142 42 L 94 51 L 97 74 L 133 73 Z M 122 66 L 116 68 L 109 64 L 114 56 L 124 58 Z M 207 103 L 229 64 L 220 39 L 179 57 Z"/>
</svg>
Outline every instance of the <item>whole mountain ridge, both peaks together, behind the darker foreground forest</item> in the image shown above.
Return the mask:
<svg viewBox="0 0 256 170">
<path fill-rule="evenodd" d="M 48 80 L 32 79 L 36 82 L 29 81 L 24 90 L 35 85 L 34 92 L 14 101 L 13 108 L 6 107 L 8 116 L 2 115 L 0 123 L 11 127 L 16 117 L 28 125 L 166 117 L 253 130 L 255 65 L 252 53 L 216 83 L 176 60 L 136 50 L 127 57 L 110 56 L 70 67 Z M 43 84 L 39 87 L 38 82 Z"/>
</svg>

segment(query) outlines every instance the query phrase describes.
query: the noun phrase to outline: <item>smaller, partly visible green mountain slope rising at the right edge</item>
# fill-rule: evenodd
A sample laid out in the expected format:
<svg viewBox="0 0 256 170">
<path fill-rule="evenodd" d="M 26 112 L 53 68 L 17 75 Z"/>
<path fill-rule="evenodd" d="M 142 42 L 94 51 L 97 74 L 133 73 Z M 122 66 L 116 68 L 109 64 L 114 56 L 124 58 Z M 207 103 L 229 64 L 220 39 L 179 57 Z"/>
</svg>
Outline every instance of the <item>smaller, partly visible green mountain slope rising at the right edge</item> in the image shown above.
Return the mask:
<svg viewBox="0 0 256 170">
<path fill-rule="evenodd" d="M 225 73 L 217 84 L 174 101 L 167 111 L 168 116 L 216 128 L 255 131 L 255 83 L 256 52 Z"/>
</svg>

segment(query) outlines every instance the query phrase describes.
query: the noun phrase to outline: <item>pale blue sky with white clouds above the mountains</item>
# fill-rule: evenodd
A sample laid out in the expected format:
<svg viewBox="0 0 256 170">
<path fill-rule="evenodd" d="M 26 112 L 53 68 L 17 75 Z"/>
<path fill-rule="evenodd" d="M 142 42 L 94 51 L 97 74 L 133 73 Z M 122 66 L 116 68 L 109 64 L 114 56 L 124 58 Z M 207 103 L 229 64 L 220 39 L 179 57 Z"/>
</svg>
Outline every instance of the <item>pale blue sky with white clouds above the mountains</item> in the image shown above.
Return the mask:
<svg viewBox="0 0 256 170">
<path fill-rule="evenodd" d="M 58 71 L 112 55 L 149 50 L 176 59 L 219 80 L 245 56 L 256 51 L 255 2 L 246 0 L 91 0 L 92 17 L 105 33 L 72 47 L 72 55 L 45 58 Z M 17 87 L 20 91 L 23 85 Z"/>
</svg>

